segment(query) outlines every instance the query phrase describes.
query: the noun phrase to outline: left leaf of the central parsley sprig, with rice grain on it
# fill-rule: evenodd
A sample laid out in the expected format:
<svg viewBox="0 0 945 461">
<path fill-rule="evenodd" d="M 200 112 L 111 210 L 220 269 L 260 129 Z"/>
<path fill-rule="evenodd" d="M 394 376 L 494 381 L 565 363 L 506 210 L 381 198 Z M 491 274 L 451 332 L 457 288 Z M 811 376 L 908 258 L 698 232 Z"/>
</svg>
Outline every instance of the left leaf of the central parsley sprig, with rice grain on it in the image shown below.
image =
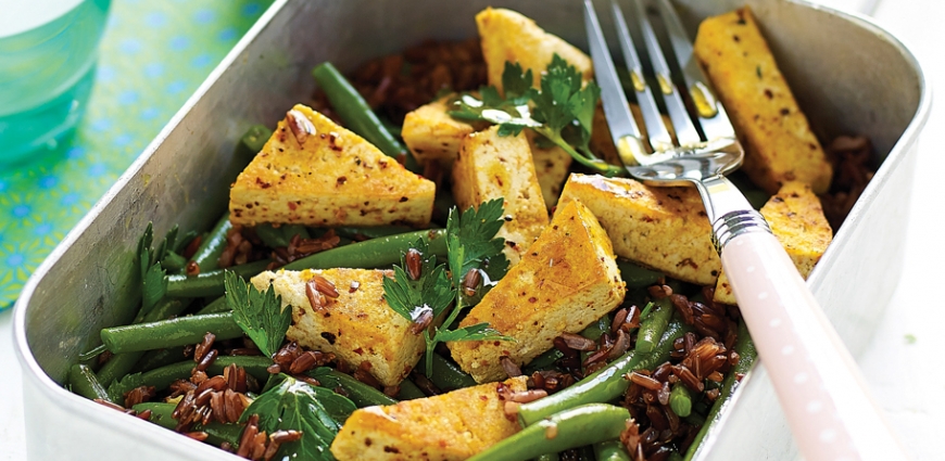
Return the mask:
<svg viewBox="0 0 945 461">
<path fill-rule="evenodd" d="M 450 307 L 454 296 L 445 267 L 437 266 L 437 256 L 430 254 L 427 242 L 417 239 L 413 248 L 420 254 L 420 277 L 411 279 L 404 270 L 407 267 L 406 254 L 401 254 L 401 266 L 394 266 L 394 278 L 383 279 L 387 304 L 410 321 L 416 321 L 425 309 L 431 309 L 433 317 L 440 316 Z"/>
</svg>

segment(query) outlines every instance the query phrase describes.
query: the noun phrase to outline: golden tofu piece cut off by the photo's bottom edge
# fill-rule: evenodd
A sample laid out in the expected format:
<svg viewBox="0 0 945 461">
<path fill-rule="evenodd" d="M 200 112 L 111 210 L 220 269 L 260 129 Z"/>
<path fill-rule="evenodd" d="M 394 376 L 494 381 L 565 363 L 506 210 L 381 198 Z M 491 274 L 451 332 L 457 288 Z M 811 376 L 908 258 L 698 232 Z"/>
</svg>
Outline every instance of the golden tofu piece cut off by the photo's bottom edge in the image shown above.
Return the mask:
<svg viewBox="0 0 945 461">
<path fill-rule="evenodd" d="M 362 408 L 331 443 L 338 461 L 462 461 L 520 430 L 505 415 L 503 392 L 526 390 L 526 377 Z"/>
</svg>

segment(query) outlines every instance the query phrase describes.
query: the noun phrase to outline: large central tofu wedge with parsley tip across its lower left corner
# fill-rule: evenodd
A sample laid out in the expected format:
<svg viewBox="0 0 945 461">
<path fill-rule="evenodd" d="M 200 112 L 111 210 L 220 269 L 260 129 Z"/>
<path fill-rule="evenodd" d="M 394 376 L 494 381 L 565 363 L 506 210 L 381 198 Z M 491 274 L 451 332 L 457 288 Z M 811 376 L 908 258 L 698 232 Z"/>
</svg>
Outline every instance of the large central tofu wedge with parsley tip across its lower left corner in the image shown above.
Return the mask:
<svg viewBox="0 0 945 461">
<path fill-rule="evenodd" d="M 508 357 L 521 366 L 552 347 L 563 332 L 577 333 L 623 302 L 610 239 L 578 201 L 559 205 L 551 225 L 521 261 L 459 323 L 488 322 L 511 341 L 449 343 L 453 359 L 483 383 L 506 376 Z"/>
</svg>

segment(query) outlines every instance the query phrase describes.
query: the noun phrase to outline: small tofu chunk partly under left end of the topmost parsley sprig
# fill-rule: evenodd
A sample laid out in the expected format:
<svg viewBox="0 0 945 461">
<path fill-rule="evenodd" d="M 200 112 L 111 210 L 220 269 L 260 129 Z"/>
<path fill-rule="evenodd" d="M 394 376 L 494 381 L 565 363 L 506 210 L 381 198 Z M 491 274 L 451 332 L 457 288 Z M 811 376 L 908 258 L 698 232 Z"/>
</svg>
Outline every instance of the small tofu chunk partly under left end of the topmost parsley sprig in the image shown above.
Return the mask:
<svg viewBox="0 0 945 461">
<path fill-rule="evenodd" d="M 421 165 L 437 162 L 451 167 L 463 139 L 488 126 L 486 123 L 469 124 L 451 117 L 448 103 L 452 98 L 455 94 L 423 105 L 404 117 L 401 137 Z"/>
</svg>

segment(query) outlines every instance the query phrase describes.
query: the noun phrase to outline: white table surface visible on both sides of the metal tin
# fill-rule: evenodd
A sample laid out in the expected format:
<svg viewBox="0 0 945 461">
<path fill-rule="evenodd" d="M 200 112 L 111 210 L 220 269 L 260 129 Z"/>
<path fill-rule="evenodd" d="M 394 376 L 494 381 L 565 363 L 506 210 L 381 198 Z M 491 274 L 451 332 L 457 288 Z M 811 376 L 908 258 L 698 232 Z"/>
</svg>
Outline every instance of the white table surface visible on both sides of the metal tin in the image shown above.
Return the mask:
<svg viewBox="0 0 945 461">
<path fill-rule="evenodd" d="M 881 26 L 899 37 L 922 63 L 931 86 L 945 91 L 945 1 L 942 0 L 820 0 L 820 3 L 872 13 Z M 942 93 L 940 93 L 942 94 Z M 945 369 L 941 348 L 945 308 L 935 290 L 942 283 L 945 239 L 936 228 L 945 223 L 934 189 L 936 172 L 945 171 L 935 135 L 945 128 L 945 99 L 936 98 L 920 140 L 906 264 L 882 324 L 859 364 L 889 422 L 916 460 L 945 459 L 933 427 L 945 427 Z M 941 181 L 941 179 L 938 179 Z M 941 191 L 940 191 L 941 192 Z M 882 264 L 877 261 L 877 264 Z M 25 460 L 25 433 L 20 364 L 13 353 L 11 312 L 0 315 L 0 461 Z"/>
</svg>

